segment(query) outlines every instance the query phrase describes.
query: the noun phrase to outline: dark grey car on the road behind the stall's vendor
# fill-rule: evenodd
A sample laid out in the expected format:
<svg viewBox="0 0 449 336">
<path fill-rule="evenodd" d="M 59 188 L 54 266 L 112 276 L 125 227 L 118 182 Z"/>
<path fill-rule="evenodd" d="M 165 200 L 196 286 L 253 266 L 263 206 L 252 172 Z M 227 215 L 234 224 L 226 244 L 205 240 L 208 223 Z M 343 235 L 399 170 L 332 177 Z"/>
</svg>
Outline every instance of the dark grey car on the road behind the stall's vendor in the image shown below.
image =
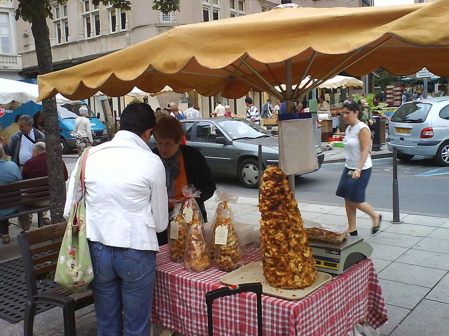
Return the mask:
<svg viewBox="0 0 449 336">
<path fill-rule="evenodd" d="M 187 144 L 200 150 L 214 175 L 236 176 L 243 186 L 257 188 L 259 144 L 263 168 L 279 163 L 278 137 L 246 119 L 186 119 L 181 123 Z M 154 147 L 154 138 L 150 147 Z M 324 153 L 320 146 L 315 147 L 321 167 Z"/>
</svg>

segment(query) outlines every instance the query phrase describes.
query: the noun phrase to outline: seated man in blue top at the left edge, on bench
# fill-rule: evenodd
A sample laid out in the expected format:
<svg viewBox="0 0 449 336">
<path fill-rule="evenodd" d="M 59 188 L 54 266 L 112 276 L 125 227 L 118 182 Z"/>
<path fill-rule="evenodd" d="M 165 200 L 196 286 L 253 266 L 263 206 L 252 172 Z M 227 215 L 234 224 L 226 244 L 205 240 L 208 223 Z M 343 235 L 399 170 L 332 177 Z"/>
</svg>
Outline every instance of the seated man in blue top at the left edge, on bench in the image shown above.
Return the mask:
<svg viewBox="0 0 449 336">
<path fill-rule="evenodd" d="M 0 184 L 20 181 L 20 169 L 13 162 L 4 160 L 3 146 L 0 146 Z M 18 207 L 0 209 L 0 216 L 7 216 L 17 211 Z M 0 233 L 3 244 L 9 244 L 9 220 L 0 220 Z"/>
</svg>

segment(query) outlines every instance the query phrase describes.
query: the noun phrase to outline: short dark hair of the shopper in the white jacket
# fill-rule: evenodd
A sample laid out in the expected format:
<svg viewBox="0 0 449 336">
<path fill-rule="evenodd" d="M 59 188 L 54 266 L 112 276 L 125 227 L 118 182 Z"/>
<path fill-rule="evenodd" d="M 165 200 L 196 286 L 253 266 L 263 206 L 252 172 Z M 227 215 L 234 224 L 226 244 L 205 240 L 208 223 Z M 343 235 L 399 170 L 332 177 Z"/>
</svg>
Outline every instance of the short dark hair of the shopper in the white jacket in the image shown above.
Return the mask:
<svg viewBox="0 0 449 336">
<path fill-rule="evenodd" d="M 129 103 L 122 112 L 120 129 L 133 132 L 139 136 L 156 125 L 156 117 L 150 105 L 145 103 Z"/>
</svg>

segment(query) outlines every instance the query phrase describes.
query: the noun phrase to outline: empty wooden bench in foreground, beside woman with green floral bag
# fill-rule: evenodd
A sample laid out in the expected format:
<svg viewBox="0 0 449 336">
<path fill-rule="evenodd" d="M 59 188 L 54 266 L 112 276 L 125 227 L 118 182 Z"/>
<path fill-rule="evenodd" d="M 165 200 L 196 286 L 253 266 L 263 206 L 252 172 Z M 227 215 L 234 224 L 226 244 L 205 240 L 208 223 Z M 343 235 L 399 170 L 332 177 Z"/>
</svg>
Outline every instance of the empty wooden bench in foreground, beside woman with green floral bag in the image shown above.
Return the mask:
<svg viewBox="0 0 449 336">
<path fill-rule="evenodd" d="M 27 283 L 24 336 L 33 336 L 34 316 L 38 304 L 47 303 L 61 307 L 65 336 L 76 336 L 75 311 L 94 303 L 92 291 L 71 294 L 58 287 L 52 291 L 38 293 L 36 277 L 46 273 L 54 277 L 66 226 L 66 223 L 48 225 L 25 231 L 17 236 Z"/>
</svg>

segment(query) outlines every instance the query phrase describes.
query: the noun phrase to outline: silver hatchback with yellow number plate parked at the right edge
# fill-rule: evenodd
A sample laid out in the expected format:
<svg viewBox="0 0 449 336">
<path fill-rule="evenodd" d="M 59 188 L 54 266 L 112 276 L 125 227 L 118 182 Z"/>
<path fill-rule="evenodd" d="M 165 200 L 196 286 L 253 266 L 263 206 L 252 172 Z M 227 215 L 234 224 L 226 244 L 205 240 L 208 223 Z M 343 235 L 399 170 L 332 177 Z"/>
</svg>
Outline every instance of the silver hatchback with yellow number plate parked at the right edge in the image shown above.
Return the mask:
<svg viewBox="0 0 449 336">
<path fill-rule="evenodd" d="M 449 97 L 402 104 L 391 116 L 389 130 L 387 147 L 393 151 L 396 146 L 400 160 L 425 155 L 449 166 Z"/>
</svg>

